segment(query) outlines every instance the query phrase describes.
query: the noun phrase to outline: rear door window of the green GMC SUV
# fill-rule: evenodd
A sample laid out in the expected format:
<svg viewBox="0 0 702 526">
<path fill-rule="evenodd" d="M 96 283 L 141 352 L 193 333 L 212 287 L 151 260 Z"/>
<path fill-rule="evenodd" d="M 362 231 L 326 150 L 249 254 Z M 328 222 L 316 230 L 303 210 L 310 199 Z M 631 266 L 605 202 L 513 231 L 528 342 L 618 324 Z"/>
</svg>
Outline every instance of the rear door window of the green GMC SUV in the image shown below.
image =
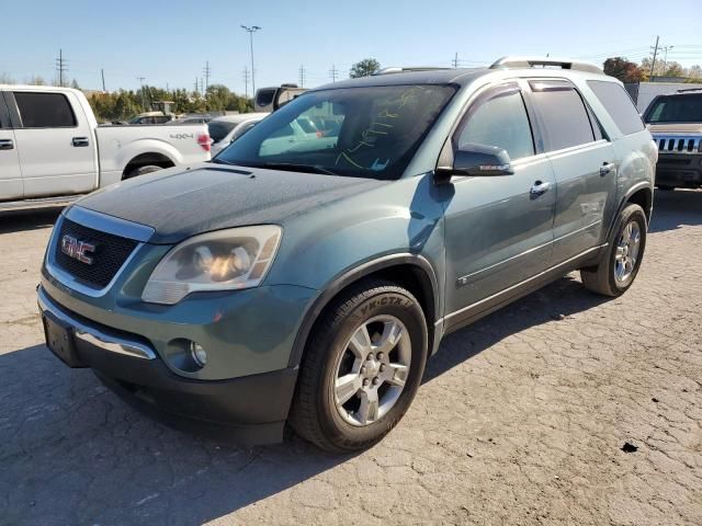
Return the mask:
<svg viewBox="0 0 702 526">
<path fill-rule="evenodd" d="M 588 112 L 574 89 L 534 91 L 533 100 L 541 116 L 548 151 L 595 140 Z"/>
</svg>

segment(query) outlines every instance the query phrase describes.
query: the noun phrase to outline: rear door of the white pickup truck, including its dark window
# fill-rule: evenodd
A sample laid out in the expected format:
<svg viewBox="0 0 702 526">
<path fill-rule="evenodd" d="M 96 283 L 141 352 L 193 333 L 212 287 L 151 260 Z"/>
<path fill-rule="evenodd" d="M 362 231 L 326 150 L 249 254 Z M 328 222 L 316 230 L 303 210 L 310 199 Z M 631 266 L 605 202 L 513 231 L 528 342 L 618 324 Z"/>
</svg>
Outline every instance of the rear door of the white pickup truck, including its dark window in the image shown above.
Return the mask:
<svg viewBox="0 0 702 526">
<path fill-rule="evenodd" d="M 70 92 L 8 92 L 20 126 L 14 136 L 24 179 L 24 197 L 72 195 L 95 187 L 94 136 Z M 12 96 L 13 95 L 13 96 Z"/>
</svg>

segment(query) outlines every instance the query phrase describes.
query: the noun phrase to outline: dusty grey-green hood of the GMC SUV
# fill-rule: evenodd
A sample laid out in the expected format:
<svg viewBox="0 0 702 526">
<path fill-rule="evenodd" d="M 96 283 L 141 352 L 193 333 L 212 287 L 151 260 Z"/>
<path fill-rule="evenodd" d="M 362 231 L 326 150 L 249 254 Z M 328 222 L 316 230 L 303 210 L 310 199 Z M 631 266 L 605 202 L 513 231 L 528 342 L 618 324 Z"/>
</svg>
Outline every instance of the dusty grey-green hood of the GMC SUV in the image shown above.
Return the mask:
<svg viewBox="0 0 702 526">
<path fill-rule="evenodd" d="M 275 224 L 386 181 L 202 163 L 140 175 L 77 206 L 146 225 L 154 243 L 247 225 Z"/>
</svg>

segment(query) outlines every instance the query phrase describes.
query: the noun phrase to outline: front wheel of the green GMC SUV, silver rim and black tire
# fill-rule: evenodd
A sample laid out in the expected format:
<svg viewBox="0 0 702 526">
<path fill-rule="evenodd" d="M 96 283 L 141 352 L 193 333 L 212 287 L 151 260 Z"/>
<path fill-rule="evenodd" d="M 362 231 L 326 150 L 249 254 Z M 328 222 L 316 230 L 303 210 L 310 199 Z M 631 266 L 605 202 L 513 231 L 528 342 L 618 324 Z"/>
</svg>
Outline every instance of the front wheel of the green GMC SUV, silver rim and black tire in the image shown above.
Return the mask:
<svg viewBox="0 0 702 526">
<path fill-rule="evenodd" d="M 298 435 L 332 453 L 364 449 L 403 418 L 427 362 L 417 299 L 386 281 L 339 298 L 309 336 L 291 410 Z"/>
</svg>

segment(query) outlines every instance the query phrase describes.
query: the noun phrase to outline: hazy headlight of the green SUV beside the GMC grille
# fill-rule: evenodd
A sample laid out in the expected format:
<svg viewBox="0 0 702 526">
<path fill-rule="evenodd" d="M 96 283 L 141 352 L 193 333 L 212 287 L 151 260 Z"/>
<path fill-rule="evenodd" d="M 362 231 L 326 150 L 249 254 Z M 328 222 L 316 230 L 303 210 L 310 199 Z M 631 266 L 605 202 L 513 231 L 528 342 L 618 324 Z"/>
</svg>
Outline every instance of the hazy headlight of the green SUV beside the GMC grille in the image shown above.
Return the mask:
<svg viewBox="0 0 702 526">
<path fill-rule="evenodd" d="M 174 305 L 199 290 L 256 287 L 273 263 L 281 235 L 281 227 L 262 225 L 190 238 L 163 256 L 141 299 Z"/>
</svg>

